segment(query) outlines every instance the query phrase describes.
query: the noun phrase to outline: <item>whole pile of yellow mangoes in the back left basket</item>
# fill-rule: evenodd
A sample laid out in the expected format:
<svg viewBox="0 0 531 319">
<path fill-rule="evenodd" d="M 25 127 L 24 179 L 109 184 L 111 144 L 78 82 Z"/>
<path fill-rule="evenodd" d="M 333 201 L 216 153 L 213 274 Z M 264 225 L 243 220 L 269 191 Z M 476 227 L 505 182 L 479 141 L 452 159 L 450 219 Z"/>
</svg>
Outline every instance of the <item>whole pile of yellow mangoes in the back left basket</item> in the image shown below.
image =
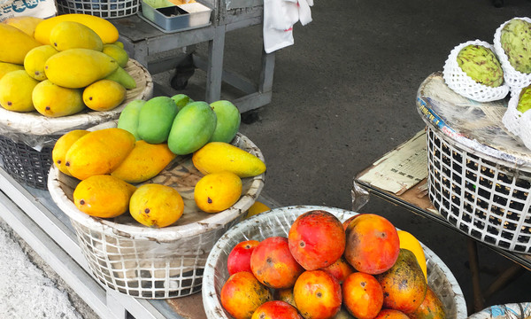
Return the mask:
<svg viewBox="0 0 531 319">
<path fill-rule="evenodd" d="M 135 89 L 111 22 L 72 13 L 0 23 L 0 105 L 46 117 L 109 111 Z"/>
</svg>

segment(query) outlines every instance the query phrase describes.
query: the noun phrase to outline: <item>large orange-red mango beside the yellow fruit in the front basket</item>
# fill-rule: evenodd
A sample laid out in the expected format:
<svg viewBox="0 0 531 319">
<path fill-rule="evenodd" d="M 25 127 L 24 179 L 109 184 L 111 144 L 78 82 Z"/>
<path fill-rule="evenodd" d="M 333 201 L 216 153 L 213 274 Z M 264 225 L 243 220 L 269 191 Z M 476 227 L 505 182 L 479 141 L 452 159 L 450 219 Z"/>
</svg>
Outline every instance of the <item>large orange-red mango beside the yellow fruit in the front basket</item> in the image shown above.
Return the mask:
<svg viewBox="0 0 531 319">
<path fill-rule="evenodd" d="M 356 270 L 378 275 L 391 268 L 400 251 L 395 226 L 377 214 L 360 214 L 346 230 L 345 259 Z"/>
</svg>

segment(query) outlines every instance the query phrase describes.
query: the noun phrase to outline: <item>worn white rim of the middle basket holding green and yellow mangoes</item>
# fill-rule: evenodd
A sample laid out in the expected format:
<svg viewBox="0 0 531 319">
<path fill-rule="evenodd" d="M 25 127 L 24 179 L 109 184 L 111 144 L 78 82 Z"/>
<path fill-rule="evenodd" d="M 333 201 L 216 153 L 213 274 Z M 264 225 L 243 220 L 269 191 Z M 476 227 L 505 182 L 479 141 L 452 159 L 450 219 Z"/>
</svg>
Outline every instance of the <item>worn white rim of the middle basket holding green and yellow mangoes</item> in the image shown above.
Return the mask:
<svg viewBox="0 0 531 319">
<path fill-rule="evenodd" d="M 258 151 L 258 158 L 265 160 L 264 155 L 258 149 L 258 146 L 254 144 L 247 136 L 243 136 L 241 133 L 237 133 L 242 141 L 249 145 L 250 148 Z M 147 239 L 157 240 L 159 242 L 168 242 L 177 240 L 183 237 L 191 237 L 203 234 L 207 231 L 218 228 L 220 225 L 224 225 L 227 222 L 232 222 L 239 215 L 244 214 L 249 207 L 254 203 L 254 200 L 258 198 L 258 195 L 264 187 L 264 179 L 266 173 L 252 177 L 252 183 L 250 183 L 250 190 L 242 194 L 242 197 L 235 203 L 234 206 L 221 211 L 219 213 L 212 214 L 212 216 L 205 218 L 198 222 L 190 222 L 184 225 L 168 226 L 165 228 L 154 229 L 147 226 L 138 224 L 124 225 L 110 220 L 102 218 L 92 217 L 89 214 L 81 212 L 74 204 L 73 201 L 68 199 L 65 192 L 60 186 L 58 181 L 59 170 L 55 165 L 50 167 L 50 174 L 48 176 L 48 190 L 50 196 L 58 205 L 58 207 L 73 221 L 80 223 L 81 225 L 89 228 L 90 230 L 101 231 L 104 235 L 130 237 L 132 239 Z"/>
</svg>

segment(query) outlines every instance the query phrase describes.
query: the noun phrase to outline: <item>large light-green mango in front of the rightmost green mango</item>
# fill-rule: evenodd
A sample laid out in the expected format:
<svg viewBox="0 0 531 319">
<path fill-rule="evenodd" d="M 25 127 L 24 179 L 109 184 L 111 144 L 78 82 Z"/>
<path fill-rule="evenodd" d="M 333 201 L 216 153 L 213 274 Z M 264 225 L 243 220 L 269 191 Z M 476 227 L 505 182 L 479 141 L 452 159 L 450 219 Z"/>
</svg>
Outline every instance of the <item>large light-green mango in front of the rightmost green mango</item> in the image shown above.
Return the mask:
<svg viewBox="0 0 531 319">
<path fill-rule="evenodd" d="M 216 124 L 216 113 L 208 103 L 192 102 L 175 116 L 168 147 L 177 155 L 196 152 L 211 138 Z"/>
</svg>

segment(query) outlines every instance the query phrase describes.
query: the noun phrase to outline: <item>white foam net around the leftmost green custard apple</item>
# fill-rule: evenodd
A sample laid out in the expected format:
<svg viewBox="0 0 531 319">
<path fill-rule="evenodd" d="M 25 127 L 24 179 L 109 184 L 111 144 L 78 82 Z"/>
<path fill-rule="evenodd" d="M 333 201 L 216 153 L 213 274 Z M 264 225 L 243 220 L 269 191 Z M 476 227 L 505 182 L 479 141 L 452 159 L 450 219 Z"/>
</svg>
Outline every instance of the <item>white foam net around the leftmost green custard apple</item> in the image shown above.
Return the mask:
<svg viewBox="0 0 531 319">
<path fill-rule="evenodd" d="M 458 44 L 450 51 L 450 55 L 446 59 L 443 67 L 444 82 L 450 89 L 463 97 L 472 98 L 478 102 L 489 102 L 500 100 L 509 93 L 509 86 L 505 82 L 499 87 L 492 88 L 487 85 L 473 81 L 458 65 L 458 53 L 467 45 L 481 45 L 489 48 L 494 53 L 494 48 L 491 44 L 481 40 L 468 41 L 466 43 Z"/>
</svg>

